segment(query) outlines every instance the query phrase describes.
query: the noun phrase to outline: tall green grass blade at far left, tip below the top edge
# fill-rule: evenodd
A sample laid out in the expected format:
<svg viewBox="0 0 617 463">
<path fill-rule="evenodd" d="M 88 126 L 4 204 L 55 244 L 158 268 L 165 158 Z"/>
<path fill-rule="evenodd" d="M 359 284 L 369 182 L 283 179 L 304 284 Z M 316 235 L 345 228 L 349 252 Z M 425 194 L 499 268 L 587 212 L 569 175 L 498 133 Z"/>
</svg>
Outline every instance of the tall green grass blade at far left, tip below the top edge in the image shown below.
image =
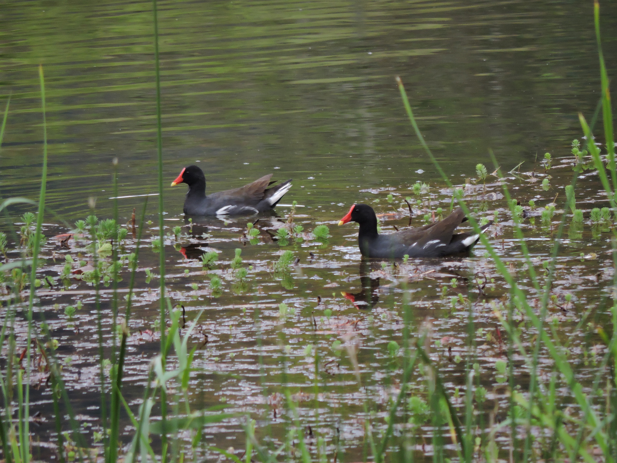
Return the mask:
<svg viewBox="0 0 617 463">
<path fill-rule="evenodd" d="M 22 446 L 29 446 L 30 443 L 30 357 L 31 357 L 31 343 L 32 343 L 32 314 L 35 301 L 35 280 L 36 280 L 36 267 L 38 267 L 38 254 L 41 249 L 41 228 L 43 228 L 43 216 L 45 214 L 45 197 L 47 191 L 47 120 L 45 116 L 45 77 L 43 75 L 43 65 L 39 65 L 39 85 L 41 87 L 41 114 L 43 115 L 43 167 L 41 169 L 41 191 L 39 193 L 38 211 L 36 215 L 36 231 L 35 231 L 35 243 L 32 251 L 32 270 L 30 273 L 30 298 L 28 300 L 28 335 L 27 335 L 27 361 L 26 361 L 26 391 L 25 391 L 25 403 L 23 411 L 23 428 L 24 436 L 27 436 L 27 440 L 22 442 Z M 23 451 L 22 457 L 23 463 L 30 461 L 30 451 Z"/>
</svg>

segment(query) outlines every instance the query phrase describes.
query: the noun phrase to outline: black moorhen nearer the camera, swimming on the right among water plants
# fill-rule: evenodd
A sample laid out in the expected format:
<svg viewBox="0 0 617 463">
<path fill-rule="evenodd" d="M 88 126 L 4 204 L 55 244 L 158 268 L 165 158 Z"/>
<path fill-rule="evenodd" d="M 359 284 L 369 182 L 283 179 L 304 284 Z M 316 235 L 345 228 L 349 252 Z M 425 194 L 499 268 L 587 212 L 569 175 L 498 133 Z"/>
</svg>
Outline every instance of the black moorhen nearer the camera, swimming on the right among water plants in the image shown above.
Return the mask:
<svg viewBox="0 0 617 463">
<path fill-rule="evenodd" d="M 371 206 L 354 204 L 339 225 L 358 222 L 360 233 L 358 245 L 364 257 L 400 258 L 409 257 L 444 257 L 469 251 L 480 238 L 478 234 L 457 233 L 455 228 L 467 218 L 463 209 L 457 207 L 452 214 L 441 222 L 429 223 L 420 228 L 409 228 L 389 235 L 377 233 L 377 217 Z M 484 231 L 492 222 L 483 225 Z"/>
</svg>

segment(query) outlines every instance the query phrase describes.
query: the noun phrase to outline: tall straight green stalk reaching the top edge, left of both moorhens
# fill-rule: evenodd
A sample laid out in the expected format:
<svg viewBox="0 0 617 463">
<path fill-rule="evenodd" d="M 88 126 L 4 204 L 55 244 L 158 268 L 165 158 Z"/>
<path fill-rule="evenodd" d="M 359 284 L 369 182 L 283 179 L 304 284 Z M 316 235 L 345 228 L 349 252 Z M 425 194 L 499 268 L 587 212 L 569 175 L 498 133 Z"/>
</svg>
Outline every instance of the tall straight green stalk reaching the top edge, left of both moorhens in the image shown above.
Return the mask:
<svg viewBox="0 0 617 463">
<path fill-rule="evenodd" d="M 157 0 L 152 0 L 152 21 L 154 26 L 154 73 L 156 80 L 156 140 L 157 140 L 157 169 L 159 173 L 159 240 L 160 240 L 160 346 L 164 351 L 165 341 L 165 234 L 163 220 L 163 133 L 161 123 L 160 105 L 160 60 L 159 60 L 159 16 L 157 11 Z M 165 369 L 165 356 L 162 357 L 163 369 Z M 167 460 L 167 394 L 164 388 L 161 389 L 160 412 L 162 419 L 162 451 L 161 463 Z"/>
</svg>

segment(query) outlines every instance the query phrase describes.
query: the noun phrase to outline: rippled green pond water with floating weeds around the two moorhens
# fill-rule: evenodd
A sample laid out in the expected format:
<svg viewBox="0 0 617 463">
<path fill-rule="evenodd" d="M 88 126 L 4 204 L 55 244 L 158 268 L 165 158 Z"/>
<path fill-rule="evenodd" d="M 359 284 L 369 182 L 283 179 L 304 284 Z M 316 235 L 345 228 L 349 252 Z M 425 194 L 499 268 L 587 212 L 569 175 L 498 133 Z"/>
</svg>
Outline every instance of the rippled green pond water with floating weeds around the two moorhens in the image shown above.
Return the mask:
<svg viewBox="0 0 617 463">
<path fill-rule="evenodd" d="M 615 62 L 610 59 L 616 51 L 615 13 L 614 4 L 603 5 L 609 65 Z M 157 191 L 151 3 L 13 1 L 3 7 L 0 22 L 0 93 L 11 94 L 0 152 L 0 191 L 3 198 L 36 199 L 38 194 L 43 131 L 36 67 L 41 63 L 48 104 L 47 205 L 54 213 L 46 216 L 43 256 L 48 265 L 41 276 L 57 282 L 39 290 L 37 310 L 59 342 L 56 352 L 65 364 L 73 410 L 91 441 L 93 431 L 101 429 L 96 297 L 92 285 L 75 275 L 59 293 L 65 255 L 88 262 L 88 251 L 79 240 L 70 240 L 67 248 L 51 237 L 67 233 L 75 220 L 92 213 L 89 198 L 96 198 L 94 214 L 99 218 L 113 216 L 114 158 L 120 196 Z M 439 362 L 449 390 L 464 385 L 465 361 L 459 356 L 465 357 L 468 311 L 458 294 L 474 302 L 475 328 L 484 330 L 474 338 L 479 378 L 489 391 L 482 412 L 488 416 L 495 402 L 507 402 L 495 380 L 494 365 L 503 356 L 504 344 L 493 315 L 500 310 L 495 304 L 505 301 L 507 287 L 484 248 L 478 245 L 466 258 L 419 259 L 393 267 L 391 262 L 362 261 L 357 227 L 336 228 L 336 223 L 354 202 L 391 213 L 381 224 L 385 232 L 394 231 L 393 225 L 408 226 L 407 196 L 420 201 L 414 204 L 415 226 L 437 207 L 449 210 L 452 192 L 408 123 L 394 80 L 399 75 L 420 129 L 452 183 L 462 185 L 477 177 L 478 162 L 492 172 L 489 148 L 504 172 L 523 162 L 505 181 L 521 204 L 536 201 L 537 211 L 528 211 L 536 223 L 526 219 L 524 231 L 541 272 L 561 216 L 556 215 L 552 225 L 540 226 L 539 211 L 553 202 L 560 209 L 563 187 L 572 178 L 572 158 L 563 163 L 559 158 L 571 156 L 571 141 L 581 138 L 577 112 L 591 119 L 600 93 L 590 5 L 162 1 L 159 31 L 165 185 L 188 164 L 202 167 L 210 192 L 271 172 L 278 180 L 293 178 L 294 186 L 282 202 L 297 201 L 294 223 L 305 233 L 303 240 L 276 239 L 289 206 L 276 209 L 280 217 L 260 218 L 255 244 L 243 236 L 247 222 L 255 218 L 186 224 L 181 215 L 184 185 L 165 187 L 167 231 L 183 227 L 180 236 L 165 241 L 167 290 L 172 304 L 186 309 L 187 322 L 204 310 L 191 337 L 199 348 L 191 377 L 193 407 L 230 404 L 232 412 L 251 414 L 260 440 L 270 439 L 274 445 L 287 432 L 283 393 L 288 385 L 299 403 L 302 425 L 312 427 L 307 438 L 313 450 L 314 428 L 325 438 L 329 453 L 339 446 L 344 461 L 365 461 L 360 460 L 367 452 L 365 420 L 383 427 L 387 404 L 400 388 L 400 356 L 387 346 L 392 340 L 402 344 L 404 307 L 410 307 L 414 332 L 428 330 L 433 342 L 452 338 L 444 341 L 452 344 L 451 353 L 441 341 L 434 342 L 431 358 Z M 545 152 L 553 155 L 553 169 L 541 164 Z M 541 182 L 547 173 L 552 179 L 544 189 Z M 411 188 L 418 180 L 431 190 L 414 194 Z M 521 275 L 520 283 L 531 286 L 523 276 L 522 254 L 495 180 L 489 177 L 486 186 L 478 181 L 466 187 L 466 198 L 481 216 L 492 218 L 498 212 L 500 220 L 490 229 L 489 240 L 510 270 Z M 573 343 L 573 362 L 583 376 L 595 371 L 595 357 L 589 356 L 600 355 L 602 348 L 593 335 L 581 332 L 579 325 L 588 320 L 582 314 L 590 309 L 589 320 L 606 322 L 607 309 L 598 304 L 613 278 L 605 263 L 610 258 L 607 230 L 588 220 L 592 207 L 607 206 L 599 190 L 593 172 L 583 172 L 576 200 L 586 222 L 566 227 L 551 306 L 555 323 L 560 323 L 559 337 Z M 555 201 L 557 194 L 560 199 Z M 118 200 L 119 222 L 129 222 L 134 208 L 139 220 L 143 201 Z M 156 222 L 156 203 L 150 197 L 146 220 Z M 19 219 L 5 219 L 7 230 L 11 221 Z M 320 224 L 330 230 L 325 242 L 308 234 Z M 159 352 L 159 280 L 145 272 L 158 273 L 159 254 L 151 246 L 158 230 L 146 223 L 144 231 L 135 309 L 128 323 L 124 389 L 135 409 L 143 397 L 149 361 Z M 128 236 L 122 254 L 135 251 L 135 240 Z M 230 269 L 236 248 L 242 249 L 246 281 Z M 217 265 L 204 269 L 199 257 L 212 249 L 220 251 Z M 283 250 L 292 251 L 299 262 L 277 272 L 275 262 Z M 222 280 L 218 293 L 212 290 L 212 275 Z M 122 277 L 120 307 L 128 288 L 126 267 Z M 110 290 L 102 288 L 101 293 L 106 352 L 111 346 Z M 65 315 L 65 307 L 77 301 L 82 304 L 77 315 Z M 281 303 L 288 307 L 286 314 Z M 18 345 L 25 341 L 22 319 L 18 312 Z M 531 346 L 533 335 L 531 330 L 524 336 L 526 346 Z M 338 348 L 335 341 L 347 348 Z M 520 367 L 516 382 L 525 388 L 529 375 L 521 358 L 515 357 Z M 550 361 L 544 357 L 542 362 L 542 374 L 549 375 Z M 414 373 L 412 390 L 418 394 L 424 388 L 420 378 Z M 47 442 L 54 435 L 49 388 L 43 376 L 35 380 L 41 387 L 33 391 L 33 401 L 43 422 L 33 432 Z M 241 449 L 243 420 L 207 427 L 205 441 Z M 418 433 L 418 457 L 431 458 L 429 438 L 421 437 L 429 434 L 429 428 Z M 122 435 L 125 443 L 133 435 L 128 419 Z M 39 448 L 41 459 L 54 458 L 44 446 Z M 217 457 L 205 446 L 201 455 Z"/>
</svg>

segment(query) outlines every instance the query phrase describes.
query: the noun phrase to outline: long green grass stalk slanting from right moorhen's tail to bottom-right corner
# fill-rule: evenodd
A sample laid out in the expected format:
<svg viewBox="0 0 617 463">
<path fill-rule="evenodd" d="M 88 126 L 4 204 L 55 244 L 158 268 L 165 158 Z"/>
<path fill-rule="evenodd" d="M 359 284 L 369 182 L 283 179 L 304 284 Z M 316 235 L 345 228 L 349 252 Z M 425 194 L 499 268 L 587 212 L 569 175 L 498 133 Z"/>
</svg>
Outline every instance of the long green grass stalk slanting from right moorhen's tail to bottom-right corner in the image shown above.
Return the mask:
<svg viewBox="0 0 617 463">
<path fill-rule="evenodd" d="M 402 82 L 400 81 L 400 78 L 397 78 L 397 81 L 399 82 L 399 90 L 400 90 L 402 99 L 404 101 L 405 109 L 407 111 L 408 117 L 410 121 L 412 122 L 412 125 L 415 128 L 416 133 L 419 133 L 420 131 L 418 130 L 417 125 L 415 123 L 413 112 L 408 103 L 407 94 L 405 93 L 405 90 L 404 90 L 404 87 L 402 86 Z M 428 152 L 429 157 L 431 157 L 431 160 L 436 165 L 437 170 L 443 173 L 443 170 L 441 170 L 441 167 L 439 167 L 439 163 L 436 161 L 430 149 L 428 148 L 426 143 L 423 141 L 423 138 L 421 138 L 421 135 L 420 135 L 420 140 L 424 148 Z M 446 181 L 446 183 L 450 185 L 450 181 L 447 177 L 445 177 L 445 175 L 443 175 L 443 178 L 444 178 L 444 181 Z M 460 201 L 460 205 L 463 207 L 463 211 L 465 211 L 466 214 L 468 214 L 469 211 L 468 211 L 468 208 L 465 206 L 465 203 L 463 201 Z M 469 220 L 470 220 L 471 225 L 474 227 L 474 230 L 476 230 L 476 233 L 477 233 L 479 231 L 479 228 L 478 228 L 478 224 L 476 220 L 474 220 L 472 216 L 469 216 Z M 584 417 L 585 417 L 585 420 L 587 421 L 587 424 L 592 429 L 596 430 L 596 432 L 594 433 L 595 441 L 600 447 L 600 449 L 602 450 L 602 453 L 604 454 L 607 462 L 613 462 L 614 461 L 613 458 L 607 453 L 607 449 L 608 449 L 607 448 L 607 437 L 605 433 L 602 431 L 602 429 L 598 428 L 598 425 L 600 424 L 600 422 L 598 420 L 597 413 L 590 406 L 589 398 L 587 394 L 583 392 L 582 385 L 576 381 L 573 370 L 571 369 L 568 360 L 563 356 L 563 354 L 561 354 L 561 352 L 557 350 L 555 344 L 553 343 L 549 335 L 547 335 L 547 333 L 545 333 L 544 331 L 540 330 L 539 317 L 537 317 L 537 315 L 534 313 L 532 308 L 529 306 L 527 299 L 526 299 L 526 295 L 523 293 L 521 288 L 518 286 L 514 278 L 510 275 L 507 268 L 503 264 L 502 259 L 495 252 L 494 248 L 492 247 L 491 243 L 489 243 L 486 236 L 481 234 L 480 240 L 482 241 L 482 244 L 486 246 L 487 251 L 489 252 L 491 257 L 494 259 L 495 267 L 505 278 L 508 285 L 510 285 L 511 291 L 513 291 L 513 296 L 515 296 L 515 301 L 518 301 L 518 303 L 522 306 L 526 316 L 531 320 L 532 325 L 536 327 L 536 330 L 538 331 L 539 336 L 542 336 L 542 341 L 544 341 L 544 344 L 546 348 L 548 349 L 550 356 L 553 357 L 553 360 L 555 361 L 555 364 L 557 365 L 561 374 L 565 376 L 566 382 L 568 383 L 569 388 L 571 389 L 571 391 L 573 391 L 576 402 L 579 404 L 582 411 L 584 412 Z M 569 436 L 567 435 L 567 433 L 563 432 L 563 428 L 561 428 L 561 432 L 562 432 L 561 433 L 562 442 L 566 444 L 566 442 L 563 440 L 564 439 L 569 440 Z M 587 456 L 587 453 L 586 451 L 584 451 L 584 449 L 580 449 L 579 454 L 581 454 L 581 456 Z"/>
</svg>

